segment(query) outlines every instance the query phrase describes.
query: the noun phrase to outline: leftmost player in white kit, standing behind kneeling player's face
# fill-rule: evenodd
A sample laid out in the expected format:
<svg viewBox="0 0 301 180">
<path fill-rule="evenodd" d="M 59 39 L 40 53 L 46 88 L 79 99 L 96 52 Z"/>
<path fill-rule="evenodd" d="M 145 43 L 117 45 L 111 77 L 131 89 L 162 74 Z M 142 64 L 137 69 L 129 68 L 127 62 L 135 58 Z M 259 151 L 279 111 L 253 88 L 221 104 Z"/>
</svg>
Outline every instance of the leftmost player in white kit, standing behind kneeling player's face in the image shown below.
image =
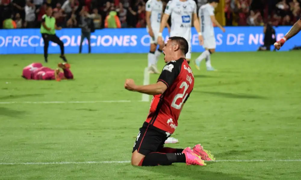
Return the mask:
<svg viewBox="0 0 301 180">
<path fill-rule="evenodd" d="M 151 48 L 147 55 L 147 67 L 150 73 L 160 73 L 157 69 L 157 62 L 162 54 L 163 45 L 157 48 L 157 39 L 160 30 L 161 15 L 163 13 L 163 3 L 161 0 L 148 0 L 145 5 L 146 10 L 146 30 L 151 36 Z M 167 28 L 170 28 L 167 24 Z"/>
</svg>

